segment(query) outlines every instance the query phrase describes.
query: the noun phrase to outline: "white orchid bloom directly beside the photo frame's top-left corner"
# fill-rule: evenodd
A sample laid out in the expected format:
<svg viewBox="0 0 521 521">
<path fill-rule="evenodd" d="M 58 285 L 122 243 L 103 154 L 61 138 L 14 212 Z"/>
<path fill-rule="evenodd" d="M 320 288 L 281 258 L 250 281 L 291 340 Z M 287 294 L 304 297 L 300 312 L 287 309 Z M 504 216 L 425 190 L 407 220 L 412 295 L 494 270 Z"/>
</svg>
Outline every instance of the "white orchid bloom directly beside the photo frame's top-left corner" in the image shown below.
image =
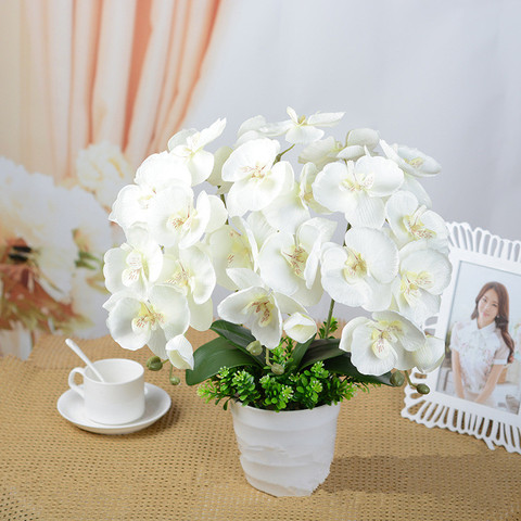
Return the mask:
<svg viewBox="0 0 521 521">
<path fill-rule="evenodd" d="M 448 253 L 448 230 L 436 213 L 419 205 L 416 195 L 399 190 L 385 203 L 385 215 L 398 247 L 425 240 L 429 247 Z"/>
</svg>

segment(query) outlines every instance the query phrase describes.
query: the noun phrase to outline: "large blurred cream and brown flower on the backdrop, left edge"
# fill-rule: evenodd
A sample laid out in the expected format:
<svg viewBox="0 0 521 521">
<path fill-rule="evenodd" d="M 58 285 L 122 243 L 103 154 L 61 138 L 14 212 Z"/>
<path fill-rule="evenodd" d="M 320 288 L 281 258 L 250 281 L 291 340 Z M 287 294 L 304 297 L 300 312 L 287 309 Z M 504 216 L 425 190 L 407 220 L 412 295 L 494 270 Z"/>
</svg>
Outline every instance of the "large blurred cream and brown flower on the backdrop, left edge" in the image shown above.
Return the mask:
<svg viewBox="0 0 521 521">
<path fill-rule="evenodd" d="M 39 332 L 105 334 L 103 254 L 116 243 L 106 209 L 3 157 L 0 183 L 0 352 L 21 354 Z"/>
</svg>

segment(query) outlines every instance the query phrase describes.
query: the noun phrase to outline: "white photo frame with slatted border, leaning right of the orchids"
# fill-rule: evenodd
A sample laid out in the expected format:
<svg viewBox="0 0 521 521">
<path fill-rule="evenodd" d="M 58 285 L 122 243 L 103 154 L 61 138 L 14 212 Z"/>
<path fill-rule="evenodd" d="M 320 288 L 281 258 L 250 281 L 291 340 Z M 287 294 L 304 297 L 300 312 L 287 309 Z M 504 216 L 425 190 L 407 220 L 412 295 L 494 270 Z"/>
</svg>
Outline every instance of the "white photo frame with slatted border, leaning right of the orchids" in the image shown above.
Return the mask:
<svg viewBox="0 0 521 521">
<path fill-rule="evenodd" d="M 427 383 L 431 392 L 421 395 L 407 385 L 402 416 L 428 428 L 440 427 L 473 435 L 483 440 L 491 449 L 503 446 L 509 453 L 521 454 L 521 241 L 501 239 L 481 228 L 472 229 L 467 223 L 452 223 L 447 226 L 453 276 L 450 284 L 442 295 L 440 314 L 429 323 L 429 330 L 435 336 L 445 339 L 446 357 L 440 368 L 427 376 L 412 372 L 412 383 Z M 484 405 L 473 401 L 475 394 L 458 396 L 458 374 L 455 374 L 453 367 L 449 336 L 455 325 L 458 325 L 458 331 L 467 327 L 466 331 L 473 334 L 469 329 L 472 328 L 470 316 L 474 307 L 478 308 L 476 297 L 480 290 L 490 281 L 500 282 L 508 290 L 508 330 L 514 342 L 514 352 L 513 361 L 505 365 L 487 404 Z M 500 331 L 497 331 L 497 334 L 503 335 Z M 470 381 L 484 381 L 483 372 L 480 372 L 483 366 L 480 369 L 479 364 L 484 364 L 483 350 L 486 348 L 482 347 L 481 358 L 466 373 L 470 374 Z M 490 355 L 498 357 L 494 358 L 492 364 L 501 365 L 506 359 L 505 352 L 503 348 L 503 355 L 498 354 L 499 351 Z M 456 360 L 462 360 L 459 356 L 454 356 L 455 364 L 458 364 Z M 490 361 L 491 357 L 487 360 Z"/>
</svg>

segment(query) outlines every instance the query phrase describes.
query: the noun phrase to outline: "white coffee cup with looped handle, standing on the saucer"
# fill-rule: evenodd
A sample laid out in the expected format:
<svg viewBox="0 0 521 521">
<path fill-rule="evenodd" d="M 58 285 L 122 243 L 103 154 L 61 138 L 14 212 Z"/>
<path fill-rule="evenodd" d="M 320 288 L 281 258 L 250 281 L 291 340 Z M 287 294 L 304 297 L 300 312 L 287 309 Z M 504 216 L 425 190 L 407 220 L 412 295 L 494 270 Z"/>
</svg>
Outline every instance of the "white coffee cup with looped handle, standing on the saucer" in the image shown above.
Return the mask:
<svg viewBox="0 0 521 521">
<path fill-rule="evenodd" d="M 69 387 L 84 398 L 85 415 L 97 423 L 118 425 L 138 420 L 144 412 L 144 369 L 126 358 L 93 363 L 105 380 L 100 382 L 89 367 L 75 367 L 68 374 Z M 84 377 L 80 387 L 76 373 Z"/>
</svg>

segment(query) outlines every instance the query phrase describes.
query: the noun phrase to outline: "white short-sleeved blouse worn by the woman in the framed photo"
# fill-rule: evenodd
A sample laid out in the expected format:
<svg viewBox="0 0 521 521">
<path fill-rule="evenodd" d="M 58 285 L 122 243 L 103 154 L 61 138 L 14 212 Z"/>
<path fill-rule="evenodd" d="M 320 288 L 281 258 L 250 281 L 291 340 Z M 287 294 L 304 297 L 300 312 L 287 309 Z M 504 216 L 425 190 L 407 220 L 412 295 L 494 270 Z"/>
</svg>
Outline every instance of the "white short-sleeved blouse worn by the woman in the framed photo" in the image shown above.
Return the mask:
<svg viewBox="0 0 521 521">
<path fill-rule="evenodd" d="M 471 393 L 480 393 L 494 365 L 506 365 L 508 347 L 495 322 L 479 329 L 476 320 L 456 322 L 450 348 L 459 353 L 461 380 Z"/>
</svg>

